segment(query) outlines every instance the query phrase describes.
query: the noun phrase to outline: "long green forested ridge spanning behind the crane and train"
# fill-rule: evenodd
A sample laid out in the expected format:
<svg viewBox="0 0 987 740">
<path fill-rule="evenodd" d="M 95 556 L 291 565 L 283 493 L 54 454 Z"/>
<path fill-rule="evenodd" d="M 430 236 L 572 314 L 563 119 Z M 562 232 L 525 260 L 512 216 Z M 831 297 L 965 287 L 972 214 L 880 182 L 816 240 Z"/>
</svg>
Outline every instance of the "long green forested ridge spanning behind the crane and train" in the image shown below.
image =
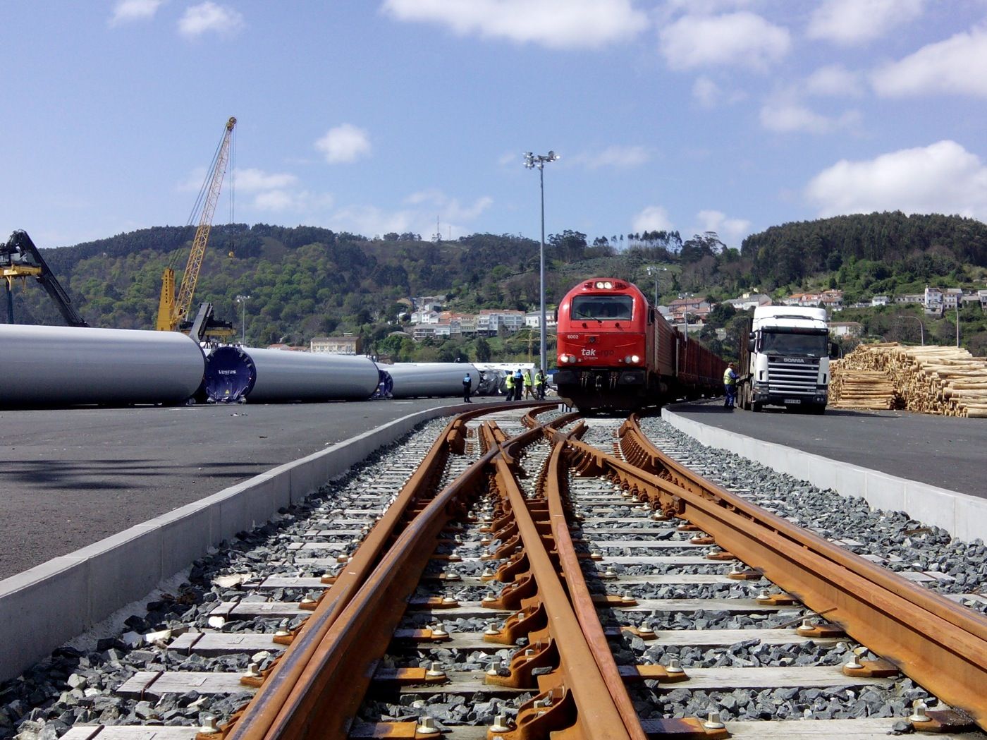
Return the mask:
<svg viewBox="0 0 987 740">
<path fill-rule="evenodd" d="M 162 272 L 173 265 L 181 280 L 193 234 L 192 227 L 160 226 L 43 253 L 91 325 L 149 329 Z M 408 310 L 412 296 L 443 293 L 448 308 L 463 312 L 534 310 L 538 262 L 538 242 L 510 234 L 435 243 L 411 233 L 369 239 L 310 226 L 230 224 L 212 229 L 193 302 L 211 301 L 218 317 L 239 327 L 244 306 L 235 298 L 249 295 L 243 317 L 248 342 L 257 344 L 342 331 L 373 340 L 397 328 L 388 322 Z M 665 270 L 648 274 L 649 266 Z M 893 212 L 787 223 L 749 236 L 739 250 L 724 248 L 712 232 L 590 241 L 564 230 L 548 239 L 546 294 L 553 304 L 595 275 L 633 281 L 648 294 L 657 288 L 663 300 L 840 287 L 850 301 L 925 283 L 982 288 L 985 268 L 987 225 L 958 216 Z M 61 323 L 34 284 L 17 290 L 15 314 L 21 323 Z"/>
</svg>

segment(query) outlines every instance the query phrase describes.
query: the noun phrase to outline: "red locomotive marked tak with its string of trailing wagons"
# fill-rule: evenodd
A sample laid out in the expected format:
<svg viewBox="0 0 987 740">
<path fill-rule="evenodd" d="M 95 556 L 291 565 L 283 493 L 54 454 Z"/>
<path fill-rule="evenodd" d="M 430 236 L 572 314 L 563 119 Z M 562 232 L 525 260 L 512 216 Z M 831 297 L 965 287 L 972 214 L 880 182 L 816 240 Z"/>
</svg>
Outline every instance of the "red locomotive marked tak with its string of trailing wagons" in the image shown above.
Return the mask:
<svg viewBox="0 0 987 740">
<path fill-rule="evenodd" d="M 559 396 L 580 411 L 635 410 L 722 393 L 726 363 L 672 327 L 635 285 L 591 278 L 559 304 Z"/>
</svg>

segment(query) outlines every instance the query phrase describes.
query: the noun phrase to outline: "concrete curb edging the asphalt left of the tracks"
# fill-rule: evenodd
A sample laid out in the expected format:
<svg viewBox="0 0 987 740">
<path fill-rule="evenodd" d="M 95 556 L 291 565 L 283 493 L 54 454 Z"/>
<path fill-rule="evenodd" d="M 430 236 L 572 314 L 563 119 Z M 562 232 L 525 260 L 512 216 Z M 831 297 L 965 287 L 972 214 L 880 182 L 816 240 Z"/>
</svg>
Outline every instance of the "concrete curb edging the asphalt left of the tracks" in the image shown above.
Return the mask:
<svg viewBox="0 0 987 740">
<path fill-rule="evenodd" d="M 475 408 L 437 406 L 396 419 L 0 581 L 0 681 L 21 675 L 210 547 L 265 523 L 419 423 Z"/>
</svg>

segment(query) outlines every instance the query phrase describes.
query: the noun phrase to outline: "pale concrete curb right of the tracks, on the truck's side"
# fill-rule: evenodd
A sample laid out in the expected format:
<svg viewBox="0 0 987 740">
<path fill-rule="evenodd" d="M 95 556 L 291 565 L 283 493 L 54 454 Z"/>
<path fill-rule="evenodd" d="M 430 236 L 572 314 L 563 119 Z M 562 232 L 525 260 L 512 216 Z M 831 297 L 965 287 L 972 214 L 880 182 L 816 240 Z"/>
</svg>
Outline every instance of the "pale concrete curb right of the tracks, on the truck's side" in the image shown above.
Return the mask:
<svg viewBox="0 0 987 740">
<path fill-rule="evenodd" d="M 841 496 L 864 498 L 872 509 L 907 512 L 912 519 L 941 527 L 965 541 L 978 537 L 987 540 L 987 499 L 762 442 L 703 424 L 668 408 L 661 410 L 661 418 L 703 445 L 734 452 L 817 488 L 831 488 Z"/>
</svg>

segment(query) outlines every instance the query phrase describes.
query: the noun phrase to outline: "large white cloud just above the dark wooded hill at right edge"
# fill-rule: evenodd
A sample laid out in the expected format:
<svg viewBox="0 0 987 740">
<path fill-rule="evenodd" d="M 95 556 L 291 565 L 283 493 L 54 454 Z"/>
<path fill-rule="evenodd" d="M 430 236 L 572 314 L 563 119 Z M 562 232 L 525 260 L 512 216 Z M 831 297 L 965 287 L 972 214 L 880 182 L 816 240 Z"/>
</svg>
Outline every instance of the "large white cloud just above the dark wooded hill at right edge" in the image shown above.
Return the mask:
<svg viewBox="0 0 987 740">
<path fill-rule="evenodd" d="M 806 199 L 820 216 L 901 210 L 987 218 L 987 167 L 955 141 L 841 160 L 816 175 Z"/>
</svg>

